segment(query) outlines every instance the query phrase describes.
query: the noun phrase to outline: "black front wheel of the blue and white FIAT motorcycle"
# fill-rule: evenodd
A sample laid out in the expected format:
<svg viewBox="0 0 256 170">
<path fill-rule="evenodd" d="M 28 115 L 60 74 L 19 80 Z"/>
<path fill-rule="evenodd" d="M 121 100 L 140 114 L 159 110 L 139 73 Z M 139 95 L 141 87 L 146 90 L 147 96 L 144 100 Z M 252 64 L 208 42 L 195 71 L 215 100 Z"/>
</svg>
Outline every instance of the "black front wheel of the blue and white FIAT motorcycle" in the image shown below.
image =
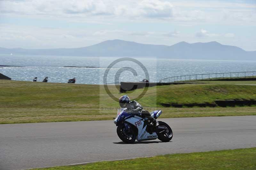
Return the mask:
<svg viewBox="0 0 256 170">
<path fill-rule="evenodd" d="M 124 124 L 121 124 L 116 128 L 116 133 L 118 137 L 125 143 L 134 143 L 136 140 L 136 133 L 134 130 L 130 128 L 130 131 L 126 132 Z"/>
</svg>

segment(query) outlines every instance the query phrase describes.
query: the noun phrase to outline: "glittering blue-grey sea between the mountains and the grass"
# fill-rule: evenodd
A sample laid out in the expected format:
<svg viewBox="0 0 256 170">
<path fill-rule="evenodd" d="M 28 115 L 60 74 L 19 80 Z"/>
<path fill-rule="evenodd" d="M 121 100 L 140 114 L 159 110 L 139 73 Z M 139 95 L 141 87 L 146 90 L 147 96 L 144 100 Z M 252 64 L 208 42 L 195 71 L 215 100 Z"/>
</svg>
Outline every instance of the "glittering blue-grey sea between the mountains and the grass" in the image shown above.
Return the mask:
<svg viewBox="0 0 256 170">
<path fill-rule="evenodd" d="M 0 54 L 0 65 L 11 66 L 0 66 L 0 73 L 12 80 L 32 81 L 37 76 L 37 80 L 42 81 L 47 76 L 48 82 L 67 83 L 76 77 L 79 84 L 140 81 L 146 77 L 150 82 L 159 82 L 163 78 L 189 74 L 256 71 L 256 61 L 16 54 Z"/>
</svg>

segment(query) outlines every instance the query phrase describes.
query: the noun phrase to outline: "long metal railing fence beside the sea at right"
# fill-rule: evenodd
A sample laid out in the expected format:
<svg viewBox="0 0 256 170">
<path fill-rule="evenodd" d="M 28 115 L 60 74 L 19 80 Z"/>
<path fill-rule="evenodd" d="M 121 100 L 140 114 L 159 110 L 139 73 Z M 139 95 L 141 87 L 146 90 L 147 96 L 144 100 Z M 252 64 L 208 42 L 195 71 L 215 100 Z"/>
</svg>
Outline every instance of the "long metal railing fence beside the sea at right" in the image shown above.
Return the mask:
<svg viewBox="0 0 256 170">
<path fill-rule="evenodd" d="M 251 77 L 251 76 L 256 76 L 256 71 L 181 75 L 181 76 L 167 77 L 167 78 L 161 79 L 159 82 L 169 83 L 169 82 L 175 82 L 175 81 L 189 81 L 189 80 L 203 80 L 203 79 L 207 80 L 212 78 Z"/>
</svg>

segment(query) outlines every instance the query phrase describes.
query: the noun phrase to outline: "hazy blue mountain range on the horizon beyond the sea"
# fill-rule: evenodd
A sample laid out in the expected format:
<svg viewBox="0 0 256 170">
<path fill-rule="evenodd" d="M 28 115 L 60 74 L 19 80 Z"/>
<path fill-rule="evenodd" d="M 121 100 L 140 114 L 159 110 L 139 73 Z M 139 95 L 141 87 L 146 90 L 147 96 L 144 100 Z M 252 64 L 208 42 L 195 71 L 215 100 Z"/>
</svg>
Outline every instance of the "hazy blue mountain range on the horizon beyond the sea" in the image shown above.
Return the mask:
<svg viewBox="0 0 256 170">
<path fill-rule="evenodd" d="M 108 40 L 82 48 L 22 49 L 0 48 L 0 54 L 58 55 L 85 57 L 157 57 L 174 59 L 256 60 L 256 51 L 245 51 L 218 42 L 186 43 L 171 46 Z"/>
</svg>

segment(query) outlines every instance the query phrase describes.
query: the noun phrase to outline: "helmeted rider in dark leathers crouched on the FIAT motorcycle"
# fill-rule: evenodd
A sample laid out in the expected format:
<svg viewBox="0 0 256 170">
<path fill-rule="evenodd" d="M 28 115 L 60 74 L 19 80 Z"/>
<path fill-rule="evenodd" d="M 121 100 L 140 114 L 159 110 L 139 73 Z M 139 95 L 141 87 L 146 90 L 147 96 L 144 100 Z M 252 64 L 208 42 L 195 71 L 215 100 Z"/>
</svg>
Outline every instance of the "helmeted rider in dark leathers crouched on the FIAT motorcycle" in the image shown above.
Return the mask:
<svg viewBox="0 0 256 170">
<path fill-rule="evenodd" d="M 130 98 L 127 95 L 121 96 L 119 98 L 119 104 L 122 108 L 127 108 L 127 113 L 141 113 L 142 116 L 148 118 L 151 122 L 153 122 L 153 127 L 158 126 L 158 122 L 155 118 L 153 118 L 147 110 L 142 110 L 142 106 L 135 100 L 130 100 Z"/>
</svg>

